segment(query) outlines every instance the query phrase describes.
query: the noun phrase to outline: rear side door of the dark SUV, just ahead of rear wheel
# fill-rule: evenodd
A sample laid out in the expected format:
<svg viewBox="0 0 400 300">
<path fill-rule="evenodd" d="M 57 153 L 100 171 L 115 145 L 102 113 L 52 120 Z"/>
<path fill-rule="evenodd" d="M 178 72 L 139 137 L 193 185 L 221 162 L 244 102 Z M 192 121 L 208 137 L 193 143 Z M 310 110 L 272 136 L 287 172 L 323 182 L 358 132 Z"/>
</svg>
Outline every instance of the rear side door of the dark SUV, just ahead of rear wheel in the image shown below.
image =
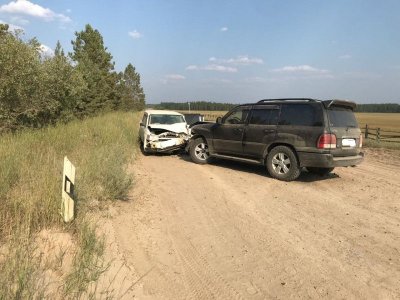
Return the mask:
<svg viewBox="0 0 400 300">
<path fill-rule="evenodd" d="M 245 156 L 263 157 L 265 148 L 275 140 L 278 117 L 279 105 L 253 106 L 243 134 Z"/>
</svg>

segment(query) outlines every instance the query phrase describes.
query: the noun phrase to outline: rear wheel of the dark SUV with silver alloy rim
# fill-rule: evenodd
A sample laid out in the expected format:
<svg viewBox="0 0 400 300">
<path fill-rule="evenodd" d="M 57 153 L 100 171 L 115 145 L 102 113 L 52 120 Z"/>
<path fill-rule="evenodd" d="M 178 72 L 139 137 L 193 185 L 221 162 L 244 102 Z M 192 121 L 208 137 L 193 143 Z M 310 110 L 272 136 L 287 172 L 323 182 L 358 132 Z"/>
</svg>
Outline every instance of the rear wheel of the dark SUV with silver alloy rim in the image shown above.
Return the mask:
<svg viewBox="0 0 400 300">
<path fill-rule="evenodd" d="M 279 180 L 296 180 L 301 172 L 296 154 L 286 146 L 276 146 L 267 156 L 269 174 Z"/>
</svg>

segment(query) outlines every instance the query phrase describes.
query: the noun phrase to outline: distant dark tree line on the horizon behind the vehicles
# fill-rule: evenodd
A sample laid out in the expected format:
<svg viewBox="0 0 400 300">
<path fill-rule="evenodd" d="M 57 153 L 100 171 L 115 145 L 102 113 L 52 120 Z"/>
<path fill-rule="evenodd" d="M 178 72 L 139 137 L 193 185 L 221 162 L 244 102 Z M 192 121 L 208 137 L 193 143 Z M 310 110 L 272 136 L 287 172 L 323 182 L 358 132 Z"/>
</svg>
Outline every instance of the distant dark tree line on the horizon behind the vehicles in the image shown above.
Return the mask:
<svg viewBox="0 0 400 300">
<path fill-rule="evenodd" d="M 160 104 L 149 104 L 149 108 L 154 109 L 169 109 L 169 110 L 191 110 L 204 111 L 228 111 L 238 104 L 219 103 L 207 101 L 194 102 L 161 102 Z M 400 105 L 396 103 L 383 104 L 357 104 L 356 112 L 371 112 L 371 113 L 400 113 Z"/>
</svg>

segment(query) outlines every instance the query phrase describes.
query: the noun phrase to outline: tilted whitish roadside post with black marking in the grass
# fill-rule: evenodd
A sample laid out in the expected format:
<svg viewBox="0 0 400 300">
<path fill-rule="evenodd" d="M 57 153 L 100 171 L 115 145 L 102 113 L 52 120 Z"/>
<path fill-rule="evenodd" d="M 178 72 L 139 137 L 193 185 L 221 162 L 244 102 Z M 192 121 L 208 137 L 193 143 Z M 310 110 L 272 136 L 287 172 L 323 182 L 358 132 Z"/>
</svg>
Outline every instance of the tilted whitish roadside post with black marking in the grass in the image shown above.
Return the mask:
<svg viewBox="0 0 400 300">
<path fill-rule="evenodd" d="M 74 187 L 75 187 L 75 167 L 64 157 L 64 171 L 62 183 L 62 197 L 61 197 L 61 215 L 64 222 L 70 222 L 74 219 Z"/>
</svg>

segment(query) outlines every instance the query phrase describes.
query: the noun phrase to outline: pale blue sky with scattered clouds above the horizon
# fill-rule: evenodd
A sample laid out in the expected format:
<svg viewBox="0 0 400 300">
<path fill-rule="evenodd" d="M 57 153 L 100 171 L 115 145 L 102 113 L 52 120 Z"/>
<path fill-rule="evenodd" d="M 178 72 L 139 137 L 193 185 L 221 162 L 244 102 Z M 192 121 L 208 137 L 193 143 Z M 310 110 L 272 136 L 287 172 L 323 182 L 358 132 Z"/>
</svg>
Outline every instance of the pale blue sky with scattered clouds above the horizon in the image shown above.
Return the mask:
<svg viewBox="0 0 400 300">
<path fill-rule="evenodd" d="M 0 0 L 0 22 L 71 50 L 91 24 L 149 103 L 271 97 L 400 103 L 400 1 Z"/>
</svg>

